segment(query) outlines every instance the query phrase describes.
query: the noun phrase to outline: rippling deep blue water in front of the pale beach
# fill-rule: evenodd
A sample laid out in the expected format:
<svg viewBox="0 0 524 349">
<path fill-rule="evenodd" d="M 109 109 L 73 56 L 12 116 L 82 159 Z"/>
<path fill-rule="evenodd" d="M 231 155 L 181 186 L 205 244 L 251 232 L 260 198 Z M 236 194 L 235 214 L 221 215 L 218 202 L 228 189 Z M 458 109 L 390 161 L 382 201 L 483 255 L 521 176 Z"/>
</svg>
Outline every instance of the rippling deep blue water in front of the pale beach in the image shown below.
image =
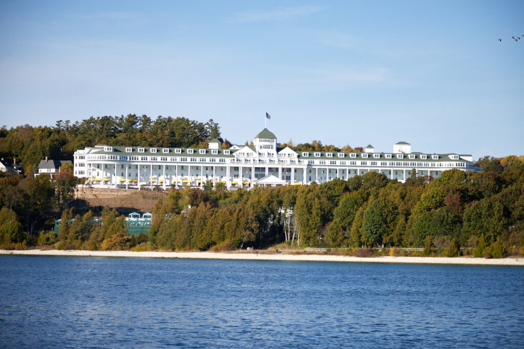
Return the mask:
<svg viewBox="0 0 524 349">
<path fill-rule="evenodd" d="M 0 256 L 0 347 L 524 347 L 524 268 Z"/>
</svg>

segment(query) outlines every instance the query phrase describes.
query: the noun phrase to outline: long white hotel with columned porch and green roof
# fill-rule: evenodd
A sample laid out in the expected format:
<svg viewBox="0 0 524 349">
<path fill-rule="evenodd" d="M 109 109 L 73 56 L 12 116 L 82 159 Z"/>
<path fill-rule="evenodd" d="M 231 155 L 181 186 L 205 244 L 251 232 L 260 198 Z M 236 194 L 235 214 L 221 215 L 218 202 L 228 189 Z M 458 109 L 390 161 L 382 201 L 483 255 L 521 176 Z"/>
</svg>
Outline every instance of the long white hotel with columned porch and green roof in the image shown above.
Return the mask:
<svg viewBox="0 0 524 349">
<path fill-rule="evenodd" d="M 297 152 L 278 148 L 275 134 L 264 129 L 253 144 L 221 149 L 220 141 L 213 139 L 205 149 L 96 145 L 74 153 L 74 174 L 105 188 L 203 186 L 206 181 L 231 188 L 323 183 L 367 172 L 404 182 L 413 169 L 417 176 L 432 177 L 452 168 L 482 171 L 472 155 L 412 152 L 406 142 L 395 144 L 392 153 L 375 153 L 371 145 L 364 153 Z"/>
</svg>

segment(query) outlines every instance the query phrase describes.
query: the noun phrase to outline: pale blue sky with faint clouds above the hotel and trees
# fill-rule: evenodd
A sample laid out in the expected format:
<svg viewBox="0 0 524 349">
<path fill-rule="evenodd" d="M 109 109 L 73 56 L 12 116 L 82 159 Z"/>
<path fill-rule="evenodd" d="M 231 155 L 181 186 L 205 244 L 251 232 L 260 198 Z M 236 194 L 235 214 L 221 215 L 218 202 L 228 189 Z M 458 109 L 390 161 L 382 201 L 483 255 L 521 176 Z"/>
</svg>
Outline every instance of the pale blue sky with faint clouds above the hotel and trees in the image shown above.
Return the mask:
<svg viewBox="0 0 524 349">
<path fill-rule="evenodd" d="M 268 112 L 282 143 L 521 155 L 523 13 L 522 1 L 0 0 L 0 125 L 213 119 L 243 144 Z"/>
</svg>

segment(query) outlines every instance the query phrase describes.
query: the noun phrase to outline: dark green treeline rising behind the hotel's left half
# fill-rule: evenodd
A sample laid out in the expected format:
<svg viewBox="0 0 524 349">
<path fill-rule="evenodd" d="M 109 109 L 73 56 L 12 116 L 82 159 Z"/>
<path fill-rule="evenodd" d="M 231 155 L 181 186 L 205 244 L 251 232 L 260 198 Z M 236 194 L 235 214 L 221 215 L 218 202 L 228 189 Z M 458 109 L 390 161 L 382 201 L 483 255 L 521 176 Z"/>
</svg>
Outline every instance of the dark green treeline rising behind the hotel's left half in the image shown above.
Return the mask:
<svg viewBox="0 0 524 349">
<path fill-rule="evenodd" d="M 90 117 L 71 123 L 58 120 L 56 126 L 29 125 L 0 129 L 0 154 L 13 159 L 27 171 L 40 160 L 72 160 L 78 149 L 96 144 L 142 147 L 207 147 L 213 138 L 223 141 L 220 126 L 212 119 L 199 122 L 187 118 L 147 115 Z M 226 144 L 227 145 L 227 144 Z"/>
</svg>

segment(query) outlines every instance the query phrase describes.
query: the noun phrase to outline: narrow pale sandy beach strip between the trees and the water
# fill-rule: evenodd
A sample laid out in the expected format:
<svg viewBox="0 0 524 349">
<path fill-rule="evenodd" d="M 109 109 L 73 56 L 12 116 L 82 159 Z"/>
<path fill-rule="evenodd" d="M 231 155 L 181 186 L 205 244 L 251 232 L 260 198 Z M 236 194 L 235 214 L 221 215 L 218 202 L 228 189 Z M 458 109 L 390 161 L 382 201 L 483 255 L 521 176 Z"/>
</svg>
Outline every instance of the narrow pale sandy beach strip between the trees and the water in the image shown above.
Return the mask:
<svg viewBox="0 0 524 349">
<path fill-rule="evenodd" d="M 74 256 L 74 257 L 134 257 L 134 258 L 183 258 L 206 260 L 244 261 L 296 261 L 343 263 L 393 263 L 393 264 L 456 264 L 456 265 L 510 265 L 524 266 L 524 258 L 489 259 L 474 257 L 355 257 L 328 254 L 255 254 L 215 252 L 159 252 L 159 251 L 85 251 L 85 250 L 0 250 L 0 255 Z"/>
</svg>

